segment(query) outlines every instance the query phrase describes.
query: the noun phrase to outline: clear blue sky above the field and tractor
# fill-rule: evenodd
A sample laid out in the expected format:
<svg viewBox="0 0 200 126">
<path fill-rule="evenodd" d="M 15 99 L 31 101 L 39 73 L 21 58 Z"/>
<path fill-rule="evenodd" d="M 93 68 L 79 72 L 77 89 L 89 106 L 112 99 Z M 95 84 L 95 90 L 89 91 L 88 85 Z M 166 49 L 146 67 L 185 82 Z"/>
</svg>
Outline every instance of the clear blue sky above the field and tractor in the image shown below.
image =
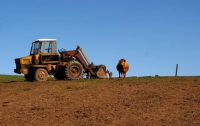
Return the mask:
<svg viewBox="0 0 200 126">
<path fill-rule="evenodd" d="M 200 75 L 199 0 L 2 0 L 0 74 L 15 75 L 15 58 L 29 55 L 38 38 L 57 48 L 80 45 L 94 64 L 117 77 Z"/>
</svg>

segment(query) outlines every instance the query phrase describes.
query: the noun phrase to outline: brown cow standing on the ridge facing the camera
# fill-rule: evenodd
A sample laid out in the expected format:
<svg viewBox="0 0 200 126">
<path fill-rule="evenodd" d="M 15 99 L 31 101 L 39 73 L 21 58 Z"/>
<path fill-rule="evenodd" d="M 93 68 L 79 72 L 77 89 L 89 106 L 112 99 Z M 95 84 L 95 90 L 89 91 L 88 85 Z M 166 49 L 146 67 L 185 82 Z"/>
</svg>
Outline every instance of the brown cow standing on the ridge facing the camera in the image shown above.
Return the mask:
<svg viewBox="0 0 200 126">
<path fill-rule="evenodd" d="M 121 77 L 126 77 L 126 72 L 129 70 L 129 65 L 128 63 L 126 62 L 125 59 L 120 59 L 118 64 L 117 64 L 117 70 L 119 72 L 119 78 L 120 78 L 120 75 Z"/>
</svg>

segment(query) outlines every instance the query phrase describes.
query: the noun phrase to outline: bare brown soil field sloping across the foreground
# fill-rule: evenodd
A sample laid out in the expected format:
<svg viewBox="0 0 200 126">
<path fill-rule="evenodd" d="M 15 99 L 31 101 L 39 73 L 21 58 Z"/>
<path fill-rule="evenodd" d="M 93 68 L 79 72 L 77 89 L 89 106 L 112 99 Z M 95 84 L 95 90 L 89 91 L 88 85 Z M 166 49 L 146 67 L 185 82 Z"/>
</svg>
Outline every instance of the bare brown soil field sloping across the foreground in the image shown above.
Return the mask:
<svg viewBox="0 0 200 126">
<path fill-rule="evenodd" d="M 1 126 L 199 126 L 200 77 L 0 83 Z"/>
</svg>

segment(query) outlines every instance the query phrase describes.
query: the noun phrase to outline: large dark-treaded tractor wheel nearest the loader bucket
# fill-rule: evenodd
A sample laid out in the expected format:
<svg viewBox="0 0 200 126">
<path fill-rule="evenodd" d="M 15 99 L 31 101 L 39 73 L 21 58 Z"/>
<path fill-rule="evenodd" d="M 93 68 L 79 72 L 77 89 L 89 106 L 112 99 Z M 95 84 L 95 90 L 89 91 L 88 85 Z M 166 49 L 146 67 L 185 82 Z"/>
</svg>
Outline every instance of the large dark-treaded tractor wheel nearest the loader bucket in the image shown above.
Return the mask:
<svg viewBox="0 0 200 126">
<path fill-rule="evenodd" d="M 65 75 L 69 80 L 78 80 L 83 78 L 83 66 L 77 60 L 71 60 L 65 67 Z"/>
</svg>

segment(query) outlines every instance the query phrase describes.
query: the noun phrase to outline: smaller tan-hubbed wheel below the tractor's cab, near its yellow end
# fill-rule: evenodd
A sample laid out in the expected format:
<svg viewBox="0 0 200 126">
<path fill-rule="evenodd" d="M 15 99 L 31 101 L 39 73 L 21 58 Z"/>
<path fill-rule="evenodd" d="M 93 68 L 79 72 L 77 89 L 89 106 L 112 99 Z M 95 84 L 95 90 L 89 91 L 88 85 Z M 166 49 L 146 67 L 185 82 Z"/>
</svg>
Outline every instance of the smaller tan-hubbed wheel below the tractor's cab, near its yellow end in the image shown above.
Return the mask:
<svg viewBox="0 0 200 126">
<path fill-rule="evenodd" d="M 47 79 L 48 79 L 48 72 L 45 69 L 39 68 L 35 71 L 36 81 L 46 81 Z"/>
</svg>

